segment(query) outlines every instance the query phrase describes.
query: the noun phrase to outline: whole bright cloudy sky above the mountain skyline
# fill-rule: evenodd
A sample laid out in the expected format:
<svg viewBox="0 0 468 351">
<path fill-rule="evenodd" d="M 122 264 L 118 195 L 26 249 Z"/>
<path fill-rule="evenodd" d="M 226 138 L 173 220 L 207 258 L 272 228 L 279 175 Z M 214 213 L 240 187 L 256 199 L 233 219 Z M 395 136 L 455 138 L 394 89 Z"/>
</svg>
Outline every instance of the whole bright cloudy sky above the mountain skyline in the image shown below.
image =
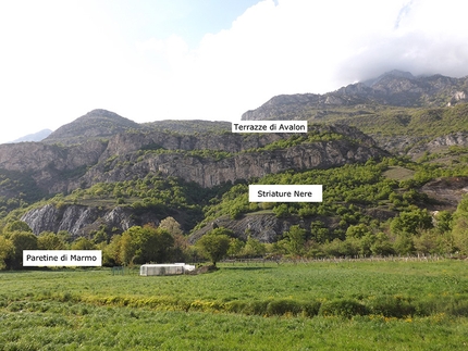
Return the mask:
<svg viewBox="0 0 468 351">
<path fill-rule="evenodd" d="M 464 0 L 0 0 L 0 142 L 94 109 L 239 121 L 392 70 L 468 75 Z"/>
</svg>

